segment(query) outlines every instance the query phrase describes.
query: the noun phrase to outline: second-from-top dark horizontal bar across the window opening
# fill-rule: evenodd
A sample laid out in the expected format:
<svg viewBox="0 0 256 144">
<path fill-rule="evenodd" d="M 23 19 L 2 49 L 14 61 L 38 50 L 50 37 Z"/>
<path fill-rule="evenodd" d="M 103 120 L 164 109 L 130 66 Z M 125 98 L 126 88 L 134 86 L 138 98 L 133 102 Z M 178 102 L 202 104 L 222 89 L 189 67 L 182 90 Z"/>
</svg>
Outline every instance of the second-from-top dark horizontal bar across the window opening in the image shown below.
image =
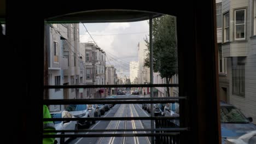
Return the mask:
<svg viewBox="0 0 256 144">
<path fill-rule="evenodd" d="M 88 100 L 88 99 L 48 99 L 43 100 L 44 105 L 68 105 L 68 104 L 166 104 L 178 102 L 177 99 L 168 100 Z"/>
</svg>

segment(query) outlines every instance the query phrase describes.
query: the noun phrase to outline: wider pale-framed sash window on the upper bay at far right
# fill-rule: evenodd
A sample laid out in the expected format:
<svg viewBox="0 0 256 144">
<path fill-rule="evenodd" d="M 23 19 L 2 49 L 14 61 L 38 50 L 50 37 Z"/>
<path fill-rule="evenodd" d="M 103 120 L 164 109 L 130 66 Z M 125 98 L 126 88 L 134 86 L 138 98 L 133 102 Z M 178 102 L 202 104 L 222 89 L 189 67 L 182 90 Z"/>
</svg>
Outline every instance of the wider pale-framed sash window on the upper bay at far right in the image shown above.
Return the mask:
<svg viewBox="0 0 256 144">
<path fill-rule="evenodd" d="M 235 10 L 235 40 L 245 39 L 245 9 Z"/>
</svg>

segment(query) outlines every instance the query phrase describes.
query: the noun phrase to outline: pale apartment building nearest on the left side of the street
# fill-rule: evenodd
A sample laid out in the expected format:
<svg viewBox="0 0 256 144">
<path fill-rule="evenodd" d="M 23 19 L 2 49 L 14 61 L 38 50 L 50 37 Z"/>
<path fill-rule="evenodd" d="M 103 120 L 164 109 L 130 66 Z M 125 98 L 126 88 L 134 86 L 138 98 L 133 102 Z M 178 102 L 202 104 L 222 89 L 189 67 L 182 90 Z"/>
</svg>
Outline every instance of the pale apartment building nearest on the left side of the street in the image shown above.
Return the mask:
<svg viewBox="0 0 256 144">
<path fill-rule="evenodd" d="M 79 25 L 53 24 L 46 27 L 49 85 L 79 85 Z M 49 89 L 49 99 L 77 99 L 79 89 Z M 50 111 L 65 106 L 50 105 Z"/>
</svg>

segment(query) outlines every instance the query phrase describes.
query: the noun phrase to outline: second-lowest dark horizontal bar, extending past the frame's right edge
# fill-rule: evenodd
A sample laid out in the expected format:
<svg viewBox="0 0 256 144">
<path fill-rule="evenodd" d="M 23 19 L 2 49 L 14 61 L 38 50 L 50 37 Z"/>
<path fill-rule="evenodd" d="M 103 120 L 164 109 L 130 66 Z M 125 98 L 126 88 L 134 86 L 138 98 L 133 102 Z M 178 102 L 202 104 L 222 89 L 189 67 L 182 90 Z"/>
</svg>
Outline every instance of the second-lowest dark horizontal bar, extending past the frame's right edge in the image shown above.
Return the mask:
<svg viewBox="0 0 256 144">
<path fill-rule="evenodd" d="M 104 132 L 104 131 L 187 131 L 188 128 L 161 129 L 86 129 L 86 130 L 43 130 L 43 133 L 74 133 L 74 132 Z"/>
</svg>

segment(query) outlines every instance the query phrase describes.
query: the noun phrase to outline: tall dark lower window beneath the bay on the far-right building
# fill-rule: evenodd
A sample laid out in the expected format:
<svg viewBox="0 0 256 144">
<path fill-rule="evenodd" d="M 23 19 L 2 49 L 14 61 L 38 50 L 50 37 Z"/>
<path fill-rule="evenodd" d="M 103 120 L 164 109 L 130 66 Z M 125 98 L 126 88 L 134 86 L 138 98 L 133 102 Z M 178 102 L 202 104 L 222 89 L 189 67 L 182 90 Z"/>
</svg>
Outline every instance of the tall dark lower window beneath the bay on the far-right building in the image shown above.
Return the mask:
<svg viewBox="0 0 256 144">
<path fill-rule="evenodd" d="M 232 93 L 245 97 L 245 58 L 232 57 Z"/>
</svg>

